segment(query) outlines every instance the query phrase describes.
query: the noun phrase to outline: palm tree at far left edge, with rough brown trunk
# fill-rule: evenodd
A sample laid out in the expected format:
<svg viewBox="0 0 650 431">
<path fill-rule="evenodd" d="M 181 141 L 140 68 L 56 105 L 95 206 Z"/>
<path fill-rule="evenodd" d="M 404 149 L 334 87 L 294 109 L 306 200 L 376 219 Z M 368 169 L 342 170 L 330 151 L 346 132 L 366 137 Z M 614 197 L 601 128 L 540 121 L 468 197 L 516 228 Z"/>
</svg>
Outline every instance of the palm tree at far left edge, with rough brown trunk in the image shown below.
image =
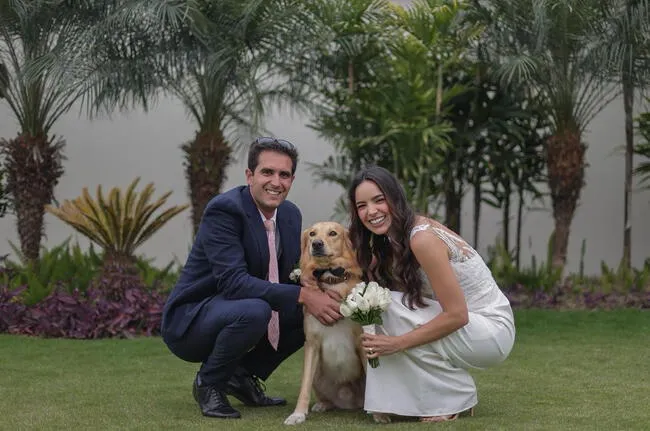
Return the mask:
<svg viewBox="0 0 650 431">
<path fill-rule="evenodd" d="M 87 89 L 36 65 L 54 50 L 82 46 L 84 29 L 104 16 L 108 3 L 0 0 L 0 99 L 19 126 L 16 138 L 0 140 L 0 152 L 21 250 L 30 261 L 38 259 L 44 208 L 63 174 L 64 141 L 51 131 Z"/>
</svg>

